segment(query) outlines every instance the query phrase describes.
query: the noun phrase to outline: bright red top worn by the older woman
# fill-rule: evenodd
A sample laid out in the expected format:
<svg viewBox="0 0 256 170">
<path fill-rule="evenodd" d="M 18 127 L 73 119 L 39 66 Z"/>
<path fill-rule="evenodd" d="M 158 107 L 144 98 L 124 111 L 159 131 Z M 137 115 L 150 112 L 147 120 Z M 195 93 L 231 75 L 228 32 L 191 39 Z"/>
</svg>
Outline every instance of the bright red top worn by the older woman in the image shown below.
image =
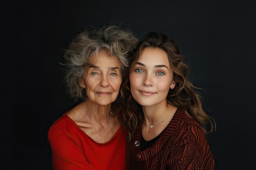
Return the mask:
<svg viewBox="0 0 256 170">
<path fill-rule="evenodd" d="M 126 131 L 121 126 L 110 141 L 98 144 L 64 114 L 51 126 L 48 139 L 54 170 L 126 169 Z"/>
</svg>

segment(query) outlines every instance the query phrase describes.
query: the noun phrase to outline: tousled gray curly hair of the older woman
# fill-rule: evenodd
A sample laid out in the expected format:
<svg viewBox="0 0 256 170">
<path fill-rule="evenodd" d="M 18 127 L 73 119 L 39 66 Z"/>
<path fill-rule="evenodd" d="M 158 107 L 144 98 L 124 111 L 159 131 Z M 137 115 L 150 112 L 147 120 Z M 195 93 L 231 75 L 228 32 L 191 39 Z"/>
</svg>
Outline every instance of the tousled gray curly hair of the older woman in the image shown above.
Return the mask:
<svg viewBox="0 0 256 170">
<path fill-rule="evenodd" d="M 67 92 L 76 100 L 87 98 L 85 91 L 81 90 L 79 80 L 83 75 L 84 66 L 90 62 L 90 57 L 94 54 L 98 55 L 101 50 L 120 60 L 124 75 L 124 70 L 128 66 L 128 56 L 136 44 L 137 38 L 132 32 L 119 26 L 104 26 L 99 30 L 85 29 L 76 35 L 64 53 L 66 60 L 64 79 Z"/>
</svg>

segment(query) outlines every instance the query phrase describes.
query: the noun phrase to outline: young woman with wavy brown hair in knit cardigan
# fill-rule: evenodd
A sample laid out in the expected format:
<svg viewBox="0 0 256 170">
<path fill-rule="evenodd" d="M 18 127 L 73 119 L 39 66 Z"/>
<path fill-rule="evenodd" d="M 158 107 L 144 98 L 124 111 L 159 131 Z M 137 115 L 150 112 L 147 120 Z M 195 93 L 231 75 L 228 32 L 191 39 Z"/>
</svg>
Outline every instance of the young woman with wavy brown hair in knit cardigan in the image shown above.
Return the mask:
<svg viewBox="0 0 256 170">
<path fill-rule="evenodd" d="M 204 135 L 213 124 L 182 60 L 173 40 L 153 32 L 131 57 L 122 87 L 131 129 L 127 170 L 213 170 Z"/>
</svg>

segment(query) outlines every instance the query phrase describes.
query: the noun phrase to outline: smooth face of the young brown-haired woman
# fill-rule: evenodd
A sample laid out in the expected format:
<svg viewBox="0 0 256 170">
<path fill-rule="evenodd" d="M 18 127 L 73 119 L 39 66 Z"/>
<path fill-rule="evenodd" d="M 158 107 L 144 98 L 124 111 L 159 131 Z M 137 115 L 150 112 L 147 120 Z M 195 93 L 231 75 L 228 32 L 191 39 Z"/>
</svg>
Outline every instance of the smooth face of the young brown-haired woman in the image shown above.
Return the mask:
<svg viewBox="0 0 256 170">
<path fill-rule="evenodd" d="M 169 89 L 175 87 L 173 70 L 167 53 L 147 47 L 130 73 L 132 97 L 142 106 L 154 106 L 166 101 Z"/>
</svg>

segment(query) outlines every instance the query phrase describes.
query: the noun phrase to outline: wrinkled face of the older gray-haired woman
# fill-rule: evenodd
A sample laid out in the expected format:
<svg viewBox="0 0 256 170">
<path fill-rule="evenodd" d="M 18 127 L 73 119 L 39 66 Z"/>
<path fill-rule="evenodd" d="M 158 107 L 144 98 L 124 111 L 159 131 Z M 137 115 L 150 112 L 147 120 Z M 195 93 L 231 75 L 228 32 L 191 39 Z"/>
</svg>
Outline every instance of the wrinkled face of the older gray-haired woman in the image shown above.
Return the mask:
<svg viewBox="0 0 256 170">
<path fill-rule="evenodd" d="M 85 88 L 88 99 L 100 105 L 115 101 L 122 82 L 121 62 L 104 50 L 90 58 L 85 66 L 80 85 Z"/>
</svg>

